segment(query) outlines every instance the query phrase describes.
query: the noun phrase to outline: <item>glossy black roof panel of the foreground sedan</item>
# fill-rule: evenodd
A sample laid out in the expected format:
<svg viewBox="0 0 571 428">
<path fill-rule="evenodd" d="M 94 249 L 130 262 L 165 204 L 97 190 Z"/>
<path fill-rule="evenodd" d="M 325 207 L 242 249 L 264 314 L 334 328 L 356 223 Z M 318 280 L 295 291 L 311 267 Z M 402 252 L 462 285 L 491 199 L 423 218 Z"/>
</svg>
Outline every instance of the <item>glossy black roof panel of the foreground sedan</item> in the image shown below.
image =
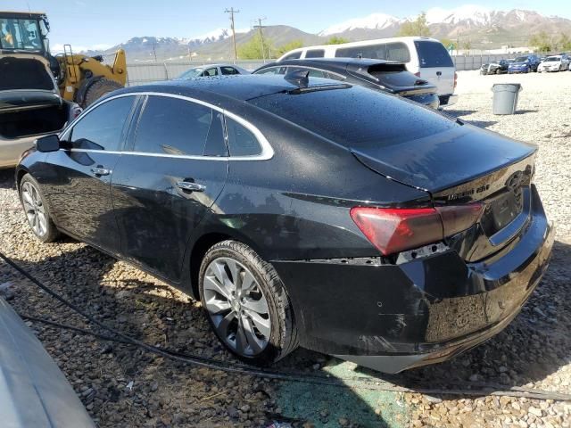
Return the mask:
<svg viewBox="0 0 571 428">
<path fill-rule="evenodd" d="M 310 86 L 332 84 L 336 80 L 325 78 L 310 78 Z M 113 94 L 163 92 L 193 96 L 197 93 L 208 93 L 237 101 L 247 101 L 264 95 L 276 94 L 294 89 L 298 86 L 285 80 L 283 76 L 264 76 L 259 74 L 237 74 L 228 76 L 212 76 L 208 78 L 188 78 L 156 82 L 150 85 L 131 86 Z"/>
</svg>

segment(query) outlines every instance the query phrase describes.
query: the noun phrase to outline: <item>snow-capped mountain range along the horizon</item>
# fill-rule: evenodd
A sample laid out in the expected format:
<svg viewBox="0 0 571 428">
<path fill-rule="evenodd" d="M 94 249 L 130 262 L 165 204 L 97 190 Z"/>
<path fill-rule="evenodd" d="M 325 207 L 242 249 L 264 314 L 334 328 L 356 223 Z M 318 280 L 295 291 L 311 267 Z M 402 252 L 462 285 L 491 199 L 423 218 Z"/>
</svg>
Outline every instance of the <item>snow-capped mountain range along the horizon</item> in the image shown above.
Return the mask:
<svg viewBox="0 0 571 428">
<path fill-rule="evenodd" d="M 406 21 L 416 17 L 398 18 L 385 13 L 372 13 L 337 23 L 317 34 L 304 32 L 287 25 L 263 28 L 263 35 L 275 46 L 299 40 L 303 45 L 319 45 L 329 37 L 343 37 L 351 41 L 393 37 Z M 539 12 L 514 9 L 499 11 L 476 5 L 463 5 L 454 9 L 432 8 L 426 11 L 426 23 L 431 37 L 458 40 L 460 47 L 493 49 L 503 45 L 525 46 L 529 37 L 539 31 L 571 36 L 571 20 L 558 16 L 545 16 Z M 258 29 L 236 30 L 236 45 L 249 41 Z M 111 54 L 124 49 L 129 62 L 172 61 L 195 58 L 197 61 L 228 60 L 233 57 L 232 33 L 229 29 L 214 29 L 199 37 L 132 37 L 103 52 Z"/>
</svg>

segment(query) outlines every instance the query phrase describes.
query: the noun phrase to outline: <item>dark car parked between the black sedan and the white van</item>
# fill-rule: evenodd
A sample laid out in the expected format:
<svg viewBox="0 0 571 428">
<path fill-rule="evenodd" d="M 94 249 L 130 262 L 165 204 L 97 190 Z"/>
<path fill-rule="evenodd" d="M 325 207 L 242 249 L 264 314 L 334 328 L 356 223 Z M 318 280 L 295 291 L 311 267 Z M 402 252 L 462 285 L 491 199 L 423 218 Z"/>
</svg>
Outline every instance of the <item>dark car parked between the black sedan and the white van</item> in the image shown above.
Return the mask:
<svg viewBox="0 0 571 428">
<path fill-rule="evenodd" d="M 433 109 L 440 105 L 436 86 L 407 71 L 402 62 L 359 58 L 285 60 L 262 65 L 252 73 L 285 76 L 294 70 L 306 70 L 310 78 L 333 78 L 352 85 L 401 95 Z"/>
</svg>

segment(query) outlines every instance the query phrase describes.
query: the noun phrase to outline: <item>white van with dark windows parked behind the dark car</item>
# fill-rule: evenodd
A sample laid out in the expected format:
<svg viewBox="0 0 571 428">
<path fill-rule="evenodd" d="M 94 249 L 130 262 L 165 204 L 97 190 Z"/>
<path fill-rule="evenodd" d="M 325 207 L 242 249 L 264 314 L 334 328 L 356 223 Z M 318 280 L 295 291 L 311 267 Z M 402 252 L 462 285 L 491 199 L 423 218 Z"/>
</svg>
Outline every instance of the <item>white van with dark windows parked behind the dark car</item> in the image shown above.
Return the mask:
<svg viewBox="0 0 571 428">
<path fill-rule="evenodd" d="M 430 37 L 392 37 L 300 47 L 282 55 L 277 62 L 304 58 L 373 58 L 404 62 L 407 70 L 438 88 L 441 105 L 456 103 L 456 67 L 444 45 Z"/>
</svg>

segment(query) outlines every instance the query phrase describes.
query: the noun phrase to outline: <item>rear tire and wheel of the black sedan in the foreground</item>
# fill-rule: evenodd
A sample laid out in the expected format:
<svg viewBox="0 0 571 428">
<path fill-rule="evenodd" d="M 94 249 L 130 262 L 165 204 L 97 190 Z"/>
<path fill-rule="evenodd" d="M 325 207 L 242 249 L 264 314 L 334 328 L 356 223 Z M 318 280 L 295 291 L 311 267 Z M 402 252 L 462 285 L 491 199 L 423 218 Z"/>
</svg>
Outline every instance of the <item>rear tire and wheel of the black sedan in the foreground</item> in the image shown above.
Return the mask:
<svg viewBox="0 0 571 428">
<path fill-rule="evenodd" d="M 199 290 L 212 330 L 237 358 L 266 366 L 297 348 L 284 284 L 244 243 L 223 241 L 206 252 Z"/>
</svg>

